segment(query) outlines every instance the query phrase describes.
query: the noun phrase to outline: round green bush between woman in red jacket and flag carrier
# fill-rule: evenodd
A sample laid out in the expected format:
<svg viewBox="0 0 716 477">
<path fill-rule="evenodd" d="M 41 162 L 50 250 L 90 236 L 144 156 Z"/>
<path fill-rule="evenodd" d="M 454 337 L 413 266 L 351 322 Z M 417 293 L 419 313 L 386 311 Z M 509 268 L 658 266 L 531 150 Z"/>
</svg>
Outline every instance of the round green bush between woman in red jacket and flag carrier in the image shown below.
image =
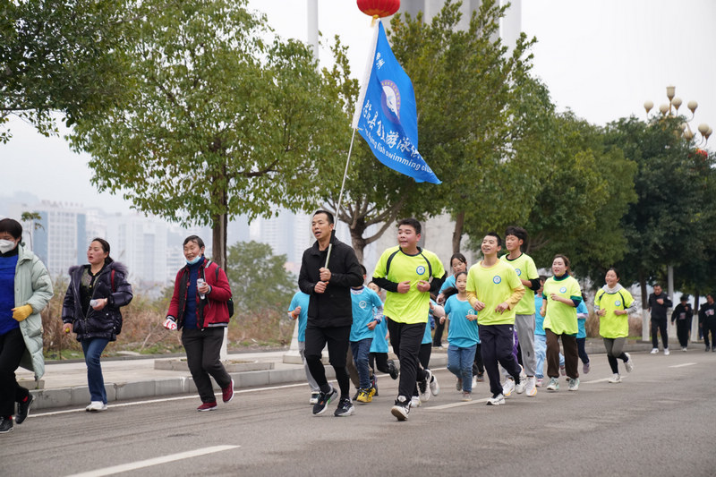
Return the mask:
<svg viewBox="0 0 716 477">
<path fill-rule="evenodd" d="M 226 275 L 237 315 L 286 310 L 296 278 L 286 271 L 285 263 L 286 255 L 274 255 L 266 243 L 237 242 L 229 247 Z"/>
</svg>

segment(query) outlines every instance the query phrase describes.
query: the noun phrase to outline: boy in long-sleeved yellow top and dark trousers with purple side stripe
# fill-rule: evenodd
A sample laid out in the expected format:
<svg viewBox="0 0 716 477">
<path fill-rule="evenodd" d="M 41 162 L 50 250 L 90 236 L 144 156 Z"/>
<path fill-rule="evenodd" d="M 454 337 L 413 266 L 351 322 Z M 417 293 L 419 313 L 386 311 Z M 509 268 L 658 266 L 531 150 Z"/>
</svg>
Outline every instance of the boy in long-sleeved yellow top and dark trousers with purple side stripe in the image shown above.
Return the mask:
<svg viewBox="0 0 716 477">
<path fill-rule="evenodd" d="M 520 365 L 512 354 L 515 308 L 524 295 L 524 286 L 515 268 L 498 259 L 502 239 L 490 232 L 482 239 L 483 260 L 467 273 L 467 299 L 477 310 L 482 360 L 490 378 L 492 397 L 488 405 L 504 405 L 498 362 L 515 379 L 517 393 L 524 392 Z"/>
</svg>

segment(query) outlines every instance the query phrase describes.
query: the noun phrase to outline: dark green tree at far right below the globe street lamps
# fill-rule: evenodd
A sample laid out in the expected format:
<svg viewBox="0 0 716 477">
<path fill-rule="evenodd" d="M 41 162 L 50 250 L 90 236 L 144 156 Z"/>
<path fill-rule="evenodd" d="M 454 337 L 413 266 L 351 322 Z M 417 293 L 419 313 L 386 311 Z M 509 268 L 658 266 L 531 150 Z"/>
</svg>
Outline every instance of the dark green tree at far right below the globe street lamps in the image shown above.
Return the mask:
<svg viewBox="0 0 716 477">
<path fill-rule="evenodd" d="M 607 128 L 609 142 L 638 166 L 637 200 L 622 219 L 629 248 L 619 267 L 626 283 L 641 285 L 643 308 L 647 282 L 663 278 L 669 265 L 706 260 L 703 246 L 713 243 L 713 158 L 694 154 L 682 124 L 680 117 L 644 123 L 632 116 Z"/>
</svg>

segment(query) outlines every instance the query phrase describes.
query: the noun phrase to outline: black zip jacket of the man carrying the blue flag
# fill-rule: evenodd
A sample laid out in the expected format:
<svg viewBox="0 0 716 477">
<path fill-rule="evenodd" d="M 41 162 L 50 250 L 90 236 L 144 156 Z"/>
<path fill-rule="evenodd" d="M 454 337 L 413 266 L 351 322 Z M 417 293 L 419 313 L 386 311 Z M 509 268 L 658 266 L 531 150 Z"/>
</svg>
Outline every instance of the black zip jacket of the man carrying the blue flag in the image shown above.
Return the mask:
<svg viewBox="0 0 716 477">
<path fill-rule="evenodd" d="M 363 283 L 361 264 L 350 246 L 335 236 L 331 237 L 330 242 L 333 243 L 333 251 L 330 252 L 328 261 L 331 277 L 326 291 L 322 294 L 313 292 L 313 288 L 320 281 L 319 269 L 326 265 L 328 252 L 328 249 L 320 251 L 318 242 L 303 252 L 298 287 L 311 297 L 308 304 L 309 325 L 321 328 L 351 326 L 351 286 L 360 286 Z"/>
</svg>

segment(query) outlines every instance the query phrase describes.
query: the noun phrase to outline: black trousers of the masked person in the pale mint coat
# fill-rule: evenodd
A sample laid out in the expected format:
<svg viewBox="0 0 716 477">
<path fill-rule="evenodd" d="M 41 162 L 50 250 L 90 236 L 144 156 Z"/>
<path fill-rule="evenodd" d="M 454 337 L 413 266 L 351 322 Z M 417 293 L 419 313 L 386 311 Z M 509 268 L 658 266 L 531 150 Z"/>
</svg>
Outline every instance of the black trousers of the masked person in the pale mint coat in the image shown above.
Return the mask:
<svg viewBox="0 0 716 477">
<path fill-rule="evenodd" d="M 0 336 L 0 416 L 10 417 L 15 413 L 15 403 L 24 401 L 30 394 L 17 384 L 15 371 L 25 353 L 25 341 L 20 328 Z"/>
</svg>

